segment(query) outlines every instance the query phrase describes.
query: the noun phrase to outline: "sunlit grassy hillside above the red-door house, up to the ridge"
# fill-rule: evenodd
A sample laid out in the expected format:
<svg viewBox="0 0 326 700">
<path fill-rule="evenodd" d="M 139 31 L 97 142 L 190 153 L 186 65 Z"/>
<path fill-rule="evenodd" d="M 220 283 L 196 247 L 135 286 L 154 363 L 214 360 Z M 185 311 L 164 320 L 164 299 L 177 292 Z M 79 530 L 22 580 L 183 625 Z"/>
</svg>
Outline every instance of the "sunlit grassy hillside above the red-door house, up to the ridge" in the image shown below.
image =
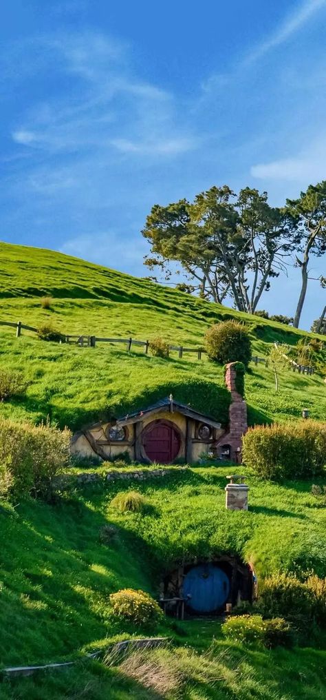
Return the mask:
<svg viewBox="0 0 326 700">
<path fill-rule="evenodd" d="M 264 318 L 239 314 L 143 279 L 114 272 L 53 251 L 0 245 L 0 320 L 52 323 L 66 333 L 151 339 L 200 346 L 209 325 L 223 318 L 241 318 L 251 332 L 253 350 L 267 356 L 274 340 L 295 344 L 311 334 Z M 40 297 L 51 295 L 51 309 Z M 124 415 L 172 391 L 175 398 L 207 411 L 223 423 L 228 394 L 223 367 L 177 354 L 168 360 L 126 353 L 121 346 L 95 349 L 41 342 L 26 333 L 15 339 L 0 328 L 0 367 L 20 367 L 28 381 L 27 395 L 1 404 L 0 412 L 18 419 L 57 421 L 73 430 L 102 415 Z M 323 379 L 285 370 L 281 391 L 274 393 L 272 370 L 252 365 L 246 378 L 249 422 L 295 419 L 303 408 L 311 416 L 326 414 Z"/>
</svg>

